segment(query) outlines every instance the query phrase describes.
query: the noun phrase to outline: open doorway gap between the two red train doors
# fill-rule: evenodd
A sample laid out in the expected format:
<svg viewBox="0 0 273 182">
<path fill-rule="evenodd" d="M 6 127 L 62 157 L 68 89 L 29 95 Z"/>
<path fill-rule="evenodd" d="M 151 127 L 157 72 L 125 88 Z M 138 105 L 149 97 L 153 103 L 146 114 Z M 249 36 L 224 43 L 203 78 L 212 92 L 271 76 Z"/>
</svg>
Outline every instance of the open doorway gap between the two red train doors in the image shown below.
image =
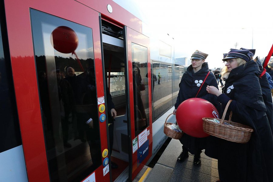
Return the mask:
<svg viewBox="0 0 273 182">
<path fill-rule="evenodd" d="M 103 65 L 106 77 L 106 89 L 111 94 L 116 118 L 108 114 L 110 161 L 112 181 L 124 181 L 129 171 L 129 139 L 127 111 L 127 81 L 125 71 L 125 50 L 123 28 L 102 20 Z M 107 90 L 106 90 L 107 91 Z M 108 92 L 107 91 L 107 92 Z M 114 120 L 114 121 L 113 121 Z"/>
</svg>

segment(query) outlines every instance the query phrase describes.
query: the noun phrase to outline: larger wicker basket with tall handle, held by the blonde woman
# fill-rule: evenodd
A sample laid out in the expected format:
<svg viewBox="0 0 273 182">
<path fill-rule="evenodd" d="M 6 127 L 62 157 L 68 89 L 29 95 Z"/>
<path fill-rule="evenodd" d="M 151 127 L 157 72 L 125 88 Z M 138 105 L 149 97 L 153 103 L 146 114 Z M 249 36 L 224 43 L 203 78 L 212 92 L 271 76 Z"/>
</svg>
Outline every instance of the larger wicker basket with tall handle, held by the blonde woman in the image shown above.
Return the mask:
<svg viewBox="0 0 273 182">
<path fill-rule="evenodd" d="M 222 119 L 217 119 L 220 123 L 210 121 L 210 119 L 215 119 L 211 117 L 203 117 L 203 130 L 207 134 L 213 135 L 218 138 L 225 139 L 227 141 L 237 142 L 237 143 L 247 143 L 251 137 L 253 129 L 244 124 L 235 123 L 231 121 L 232 111 L 229 115 L 228 121 L 224 120 L 227 108 L 232 100 L 228 101 L 227 106 L 224 110 Z M 228 124 L 223 124 L 224 122 Z"/>
</svg>

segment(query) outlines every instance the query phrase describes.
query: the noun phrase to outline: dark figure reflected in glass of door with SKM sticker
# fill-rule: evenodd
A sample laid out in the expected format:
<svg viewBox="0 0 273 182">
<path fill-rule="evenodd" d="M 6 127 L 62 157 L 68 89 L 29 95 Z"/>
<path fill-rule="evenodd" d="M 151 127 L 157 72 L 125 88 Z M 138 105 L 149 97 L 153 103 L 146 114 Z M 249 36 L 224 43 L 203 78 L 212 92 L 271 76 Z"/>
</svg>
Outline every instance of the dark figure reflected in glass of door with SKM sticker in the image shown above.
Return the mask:
<svg viewBox="0 0 273 182">
<path fill-rule="evenodd" d="M 141 99 L 140 84 L 141 75 L 140 69 L 136 64 L 133 64 L 133 93 L 134 93 L 134 117 L 135 127 L 137 131 L 141 131 L 147 125 L 147 117 L 143 101 Z"/>
</svg>

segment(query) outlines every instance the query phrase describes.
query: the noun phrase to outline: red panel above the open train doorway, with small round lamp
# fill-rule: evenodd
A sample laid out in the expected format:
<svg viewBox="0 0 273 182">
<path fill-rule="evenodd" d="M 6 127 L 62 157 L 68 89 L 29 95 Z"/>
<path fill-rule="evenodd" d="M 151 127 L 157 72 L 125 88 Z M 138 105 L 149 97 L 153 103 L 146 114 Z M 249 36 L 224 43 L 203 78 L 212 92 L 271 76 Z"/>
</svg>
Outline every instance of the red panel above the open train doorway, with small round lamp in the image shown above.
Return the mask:
<svg viewBox="0 0 273 182">
<path fill-rule="evenodd" d="M 112 23 L 115 23 L 116 25 L 126 25 L 138 32 L 142 32 L 142 21 L 111 0 L 78 1 L 100 12 L 103 18 L 109 19 Z M 109 13 L 107 10 L 108 4 L 112 6 L 112 13 Z"/>
</svg>

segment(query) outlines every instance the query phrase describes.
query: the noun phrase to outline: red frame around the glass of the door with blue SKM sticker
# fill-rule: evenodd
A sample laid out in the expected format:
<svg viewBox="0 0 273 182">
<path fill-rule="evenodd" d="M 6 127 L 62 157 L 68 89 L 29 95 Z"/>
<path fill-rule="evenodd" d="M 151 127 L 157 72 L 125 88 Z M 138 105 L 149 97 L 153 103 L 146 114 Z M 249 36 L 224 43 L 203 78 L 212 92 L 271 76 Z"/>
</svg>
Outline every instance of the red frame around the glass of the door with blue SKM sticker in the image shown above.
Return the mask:
<svg viewBox="0 0 273 182">
<path fill-rule="evenodd" d="M 139 45 L 142 45 L 144 47 L 147 47 L 148 51 L 148 84 L 149 84 L 149 126 L 147 127 L 147 130 L 150 130 L 150 135 L 147 136 L 149 140 L 149 148 L 152 148 L 152 142 L 153 142 L 153 134 L 152 134 L 152 99 L 151 99 L 151 62 L 150 62 L 150 39 L 146 37 L 145 35 L 140 34 L 139 32 L 134 31 L 131 28 L 127 28 L 127 49 L 128 49 L 128 68 L 129 68 L 129 96 L 130 98 L 133 98 L 133 75 L 132 73 L 132 47 L 131 44 L 136 43 Z M 130 100 L 130 122 L 131 122 L 131 136 L 132 139 L 135 138 L 135 129 L 133 128 L 134 123 L 134 103 L 133 99 Z M 132 180 L 136 177 L 136 175 L 140 172 L 140 170 L 143 168 L 143 166 L 146 164 L 146 162 L 149 160 L 149 158 L 152 156 L 152 150 L 149 150 L 148 156 L 143 160 L 143 162 L 137 166 L 137 152 L 132 154 Z"/>
</svg>

